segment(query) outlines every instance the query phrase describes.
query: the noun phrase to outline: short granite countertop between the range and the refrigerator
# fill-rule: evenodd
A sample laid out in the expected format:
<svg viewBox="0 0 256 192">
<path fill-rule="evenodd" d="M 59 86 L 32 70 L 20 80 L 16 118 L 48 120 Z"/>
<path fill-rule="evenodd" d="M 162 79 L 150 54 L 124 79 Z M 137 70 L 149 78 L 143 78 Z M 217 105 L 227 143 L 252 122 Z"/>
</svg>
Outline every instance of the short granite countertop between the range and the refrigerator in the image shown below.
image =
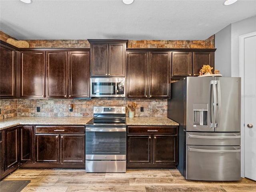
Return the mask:
<svg viewBox="0 0 256 192">
<path fill-rule="evenodd" d="M 178 126 L 179 124 L 167 117 L 127 117 L 126 125 Z"/>
</svg>

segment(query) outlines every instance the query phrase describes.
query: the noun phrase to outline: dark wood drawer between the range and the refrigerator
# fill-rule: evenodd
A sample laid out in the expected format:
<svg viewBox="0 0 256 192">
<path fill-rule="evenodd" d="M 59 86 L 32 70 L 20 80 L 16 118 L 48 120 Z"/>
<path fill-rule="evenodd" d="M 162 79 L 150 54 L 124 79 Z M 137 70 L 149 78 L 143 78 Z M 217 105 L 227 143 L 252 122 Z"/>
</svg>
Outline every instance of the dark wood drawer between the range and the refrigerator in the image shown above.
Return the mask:
<svg viewBox="0 0 256 192">
<path fill-rule="evenodd" d="M 156 134 L 156 133 L 166 133 L 166 134 L 177 134 L 177 126 L 128 126 L 128 134 L 131 133 L 144 133 L 144 134 Z"/>
</svg>

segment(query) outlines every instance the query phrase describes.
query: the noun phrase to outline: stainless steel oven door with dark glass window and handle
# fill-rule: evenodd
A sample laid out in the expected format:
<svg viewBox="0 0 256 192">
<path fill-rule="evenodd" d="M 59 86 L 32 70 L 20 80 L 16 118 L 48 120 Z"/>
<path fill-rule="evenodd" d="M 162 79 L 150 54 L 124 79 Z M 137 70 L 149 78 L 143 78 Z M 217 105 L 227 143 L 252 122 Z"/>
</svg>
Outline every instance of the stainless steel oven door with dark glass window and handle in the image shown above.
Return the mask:
<svg viewBox="0 0 256 192">
<path fill-rule="evenodd" d="M 126 160 L 126 128 L 86 128 L 86 160 Z"/>
</svg>

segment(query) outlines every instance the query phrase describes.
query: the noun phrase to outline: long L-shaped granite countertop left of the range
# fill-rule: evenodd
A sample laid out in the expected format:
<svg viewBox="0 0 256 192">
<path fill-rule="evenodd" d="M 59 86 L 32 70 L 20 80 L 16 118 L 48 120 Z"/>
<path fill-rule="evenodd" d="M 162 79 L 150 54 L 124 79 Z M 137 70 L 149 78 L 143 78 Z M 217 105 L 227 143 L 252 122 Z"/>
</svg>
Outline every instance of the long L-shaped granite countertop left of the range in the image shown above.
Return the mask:
<svg viewBox="0 0 256 192">
<path fill-rule="evenodd" d="M 0 122 L 0 130 L 16 125 L 85 125 L 92 117 L 16 117 Z"/>
</svg>

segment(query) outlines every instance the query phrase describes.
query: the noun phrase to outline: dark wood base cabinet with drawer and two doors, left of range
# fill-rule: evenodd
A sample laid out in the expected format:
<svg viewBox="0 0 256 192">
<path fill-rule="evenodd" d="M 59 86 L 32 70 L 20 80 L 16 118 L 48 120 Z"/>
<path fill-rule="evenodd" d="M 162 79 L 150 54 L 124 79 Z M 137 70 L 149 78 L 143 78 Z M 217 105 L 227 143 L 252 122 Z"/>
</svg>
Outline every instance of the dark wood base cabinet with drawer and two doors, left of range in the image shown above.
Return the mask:
<svg viewBox="0 0 256 192">
<path fill-rule="evenodd" d="M 35 136 L 35 164 L 30 167 L 85 168 L 84 126 L 36 126 Z"/>
</svg>

